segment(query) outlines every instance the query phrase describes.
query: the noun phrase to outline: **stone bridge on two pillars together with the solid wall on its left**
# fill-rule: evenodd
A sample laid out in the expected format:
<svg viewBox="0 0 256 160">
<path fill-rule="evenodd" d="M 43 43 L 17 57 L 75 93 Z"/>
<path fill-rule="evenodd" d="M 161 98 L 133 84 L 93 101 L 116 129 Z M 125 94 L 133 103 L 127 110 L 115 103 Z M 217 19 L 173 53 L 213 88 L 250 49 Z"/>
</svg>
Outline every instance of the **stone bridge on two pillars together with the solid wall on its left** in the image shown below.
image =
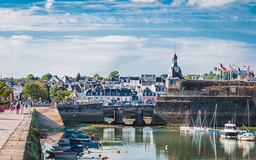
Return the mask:
<svg viewBox="0 0 256 160">
<path fill-rule="evenodd" d="M 143 111 L 147 111 L 153 115 L 154 105 L 139 106 L 102 106 L 102 103 L 89 103 L 80 105 L 57 105 L 62 121 L 65 122 L 81 122 L 81 123 L 105 123 L 103 111 L 113 111 L 113 124 L 122 124 L 123 110 L 133 110 L 135 113 L 134 125 L 144 125 Z"/>
</svg>

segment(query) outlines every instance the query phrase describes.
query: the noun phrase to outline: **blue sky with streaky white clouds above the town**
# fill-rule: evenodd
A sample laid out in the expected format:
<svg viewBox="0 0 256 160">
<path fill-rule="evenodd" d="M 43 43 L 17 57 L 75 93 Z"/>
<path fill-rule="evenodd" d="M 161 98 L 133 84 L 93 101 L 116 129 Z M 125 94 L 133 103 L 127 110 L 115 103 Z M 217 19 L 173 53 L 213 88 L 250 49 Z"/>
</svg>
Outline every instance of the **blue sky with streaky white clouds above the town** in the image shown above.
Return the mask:
<svg viewBox="0 0 256 160">
<path fill-rule="evenodd" d="M 183 75 L 252 71 L 255 14 L 256 0 L 1 0 L 0 74 L 160 76 L 174 52 Z"/>
</svg>

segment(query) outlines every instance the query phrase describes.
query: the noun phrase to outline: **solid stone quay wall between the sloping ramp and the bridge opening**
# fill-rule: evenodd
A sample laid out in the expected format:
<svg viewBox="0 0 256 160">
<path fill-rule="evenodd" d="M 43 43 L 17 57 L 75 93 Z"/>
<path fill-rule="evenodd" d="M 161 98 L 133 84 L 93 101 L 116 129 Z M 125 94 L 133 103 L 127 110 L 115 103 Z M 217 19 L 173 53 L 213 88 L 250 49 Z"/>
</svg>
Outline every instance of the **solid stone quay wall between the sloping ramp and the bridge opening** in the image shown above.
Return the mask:
<svg viewBox="0 0 256 160">
<path fill-rule="evenodd" d="M 57 105 L 58 111 L 65 122 L 104 123 L 102 103 L 81 105 Z"/>
</svg>

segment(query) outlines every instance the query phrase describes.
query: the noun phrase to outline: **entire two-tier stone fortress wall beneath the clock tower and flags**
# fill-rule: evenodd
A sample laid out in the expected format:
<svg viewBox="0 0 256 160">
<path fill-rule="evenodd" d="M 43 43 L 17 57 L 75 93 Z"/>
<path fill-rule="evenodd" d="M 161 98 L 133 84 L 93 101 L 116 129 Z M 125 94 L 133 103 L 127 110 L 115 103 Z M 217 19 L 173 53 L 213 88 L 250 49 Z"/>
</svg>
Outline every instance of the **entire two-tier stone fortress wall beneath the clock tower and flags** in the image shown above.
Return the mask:
<svg viewBox="0 0 256 160">
<path fill-rule="evenodd" d="M 236 109 L 236 124 L 242 126 L 248 100 L 252 120 L 250 123 L 256 126 L 256 82 L 182 79 L 175 81 L 176 85 L 166 86 L 166 96 L 157 97 L 152 125 L 183 124 L 187 110 L 189 113 L 192 111 L 189 116 L 192 116 L 194 121 L 199 110 L 202 119 L 206 110 L 209 125 L 217 104 L 218 126 L 232 121 Z"/>
</svg>

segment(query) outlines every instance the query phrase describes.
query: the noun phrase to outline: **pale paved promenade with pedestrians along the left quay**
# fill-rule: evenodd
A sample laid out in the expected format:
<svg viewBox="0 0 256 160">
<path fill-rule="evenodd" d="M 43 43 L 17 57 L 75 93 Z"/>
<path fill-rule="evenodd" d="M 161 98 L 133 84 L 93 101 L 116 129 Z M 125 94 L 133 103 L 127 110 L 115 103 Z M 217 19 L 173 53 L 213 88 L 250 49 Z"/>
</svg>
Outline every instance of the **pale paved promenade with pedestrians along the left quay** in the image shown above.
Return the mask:
<svg viewBox="0 0 256 160">
<path fill-rule="evenodd" d="M 28 114 L 0 113 L 0 159 L 23 159 L 30 121 Z"/>
</svg>

